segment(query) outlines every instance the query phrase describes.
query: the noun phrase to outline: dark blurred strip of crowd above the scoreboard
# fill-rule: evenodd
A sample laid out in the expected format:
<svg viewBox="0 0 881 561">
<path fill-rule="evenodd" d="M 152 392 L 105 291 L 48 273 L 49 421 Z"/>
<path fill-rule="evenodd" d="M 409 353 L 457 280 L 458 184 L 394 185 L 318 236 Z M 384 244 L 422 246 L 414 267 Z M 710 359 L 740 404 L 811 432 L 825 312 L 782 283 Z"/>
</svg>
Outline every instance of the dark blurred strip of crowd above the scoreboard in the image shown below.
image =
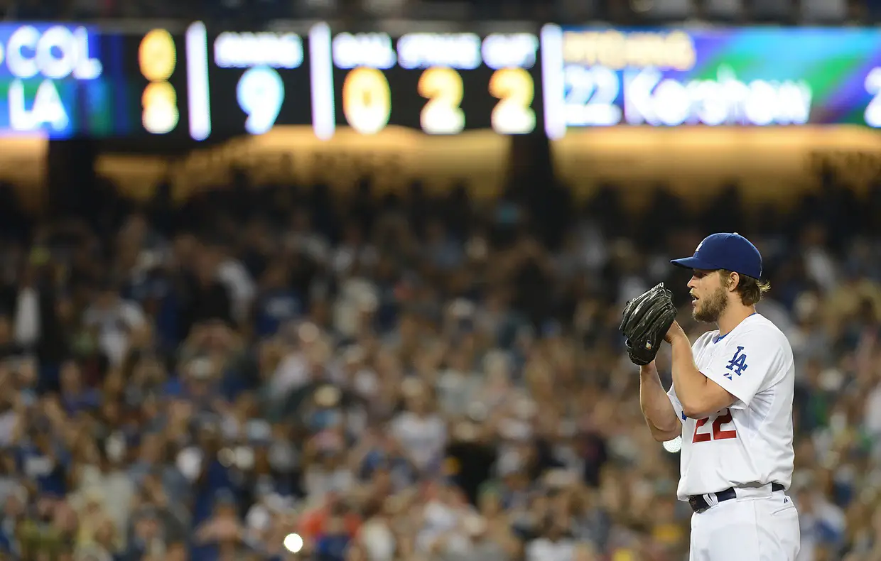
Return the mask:
<svg viewBox="0 0 881 561">
<path fill-rule="evenodd" d="M 470 18 L 840 25 L 881 20 L 881 0 L 0 0 L 6 19 L 188 18 L 259 26 L 290 18 Z"/>
</svg>

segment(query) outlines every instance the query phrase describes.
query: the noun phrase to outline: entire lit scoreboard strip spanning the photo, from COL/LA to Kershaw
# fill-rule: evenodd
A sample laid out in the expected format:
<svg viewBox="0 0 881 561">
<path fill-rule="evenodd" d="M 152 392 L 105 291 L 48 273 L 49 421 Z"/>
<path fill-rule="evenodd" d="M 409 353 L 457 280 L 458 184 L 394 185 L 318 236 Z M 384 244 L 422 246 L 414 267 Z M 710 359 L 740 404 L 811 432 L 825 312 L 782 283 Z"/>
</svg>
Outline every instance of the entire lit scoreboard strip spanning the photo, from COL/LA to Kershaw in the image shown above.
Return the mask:
<svg viewBox="0 0 881 561">
<path fill-rule="evenodd" d="M 881 127 L 881 30 L 119 33 L 0 24 L 0 135 L 503 135 L 610 126 Z M 501 29 L 501 30 L 500 30 Z"/>
</svg>

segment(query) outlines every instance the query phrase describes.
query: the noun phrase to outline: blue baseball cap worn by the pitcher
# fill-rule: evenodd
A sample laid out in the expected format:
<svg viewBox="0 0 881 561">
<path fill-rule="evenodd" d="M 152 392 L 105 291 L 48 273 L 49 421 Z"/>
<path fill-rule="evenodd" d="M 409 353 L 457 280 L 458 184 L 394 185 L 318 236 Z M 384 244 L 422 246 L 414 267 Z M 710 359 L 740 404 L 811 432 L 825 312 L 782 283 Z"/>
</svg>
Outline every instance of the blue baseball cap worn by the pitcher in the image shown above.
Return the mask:
<svg viewBox="0 0 881 561">
<path fill-rule="evenodd" d="M 683 269 L 733 270 L 747 277 L 762 276 L 762 255 L 739 233 L 714 233 L 700 242 L 694 255 L 671 261 Z"/>
</svg>

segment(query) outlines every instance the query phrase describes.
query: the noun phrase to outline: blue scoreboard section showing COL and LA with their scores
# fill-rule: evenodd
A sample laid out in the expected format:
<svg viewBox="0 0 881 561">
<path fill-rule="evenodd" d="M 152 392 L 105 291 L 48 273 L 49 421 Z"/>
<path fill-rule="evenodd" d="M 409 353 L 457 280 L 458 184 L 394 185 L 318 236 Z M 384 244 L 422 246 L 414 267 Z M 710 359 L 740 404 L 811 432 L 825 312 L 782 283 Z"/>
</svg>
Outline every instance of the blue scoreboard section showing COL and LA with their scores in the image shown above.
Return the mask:
<svg viewBox="0 0 881 561">
<path fill-rule="evenodd" d="M 170 35 L 151 37 L 92 26 L 0 25 L 0 129 L 56 138 L 171 132 L 170 107 L 186 94 L 185 80 L 177 89 L 169 82 L 184 74 L 176 68 L 181 45 Z M 152 126 L 147 110 L 159 107 L 154 99 L 169 108 L 162 126 Z"/>
</svg>

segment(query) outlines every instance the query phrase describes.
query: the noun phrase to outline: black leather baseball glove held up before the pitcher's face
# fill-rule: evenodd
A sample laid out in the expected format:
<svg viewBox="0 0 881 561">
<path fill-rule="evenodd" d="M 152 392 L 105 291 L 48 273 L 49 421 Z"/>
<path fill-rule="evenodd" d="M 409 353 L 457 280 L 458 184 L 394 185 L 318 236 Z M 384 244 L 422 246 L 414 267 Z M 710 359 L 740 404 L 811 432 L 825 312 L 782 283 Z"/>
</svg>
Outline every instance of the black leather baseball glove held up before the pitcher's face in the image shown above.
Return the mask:
<svg viewBox="0 0 881 561">
<path fill-rule="evenodd" d="M 627 355 L 634 365 L 648 365 L 655 360 L 663 337 L 676 320 L 670 291 L 663 283 L 658 284 L 627 302 L 623 315 L 619 329 L 627 338 Z"/>
</svg>

